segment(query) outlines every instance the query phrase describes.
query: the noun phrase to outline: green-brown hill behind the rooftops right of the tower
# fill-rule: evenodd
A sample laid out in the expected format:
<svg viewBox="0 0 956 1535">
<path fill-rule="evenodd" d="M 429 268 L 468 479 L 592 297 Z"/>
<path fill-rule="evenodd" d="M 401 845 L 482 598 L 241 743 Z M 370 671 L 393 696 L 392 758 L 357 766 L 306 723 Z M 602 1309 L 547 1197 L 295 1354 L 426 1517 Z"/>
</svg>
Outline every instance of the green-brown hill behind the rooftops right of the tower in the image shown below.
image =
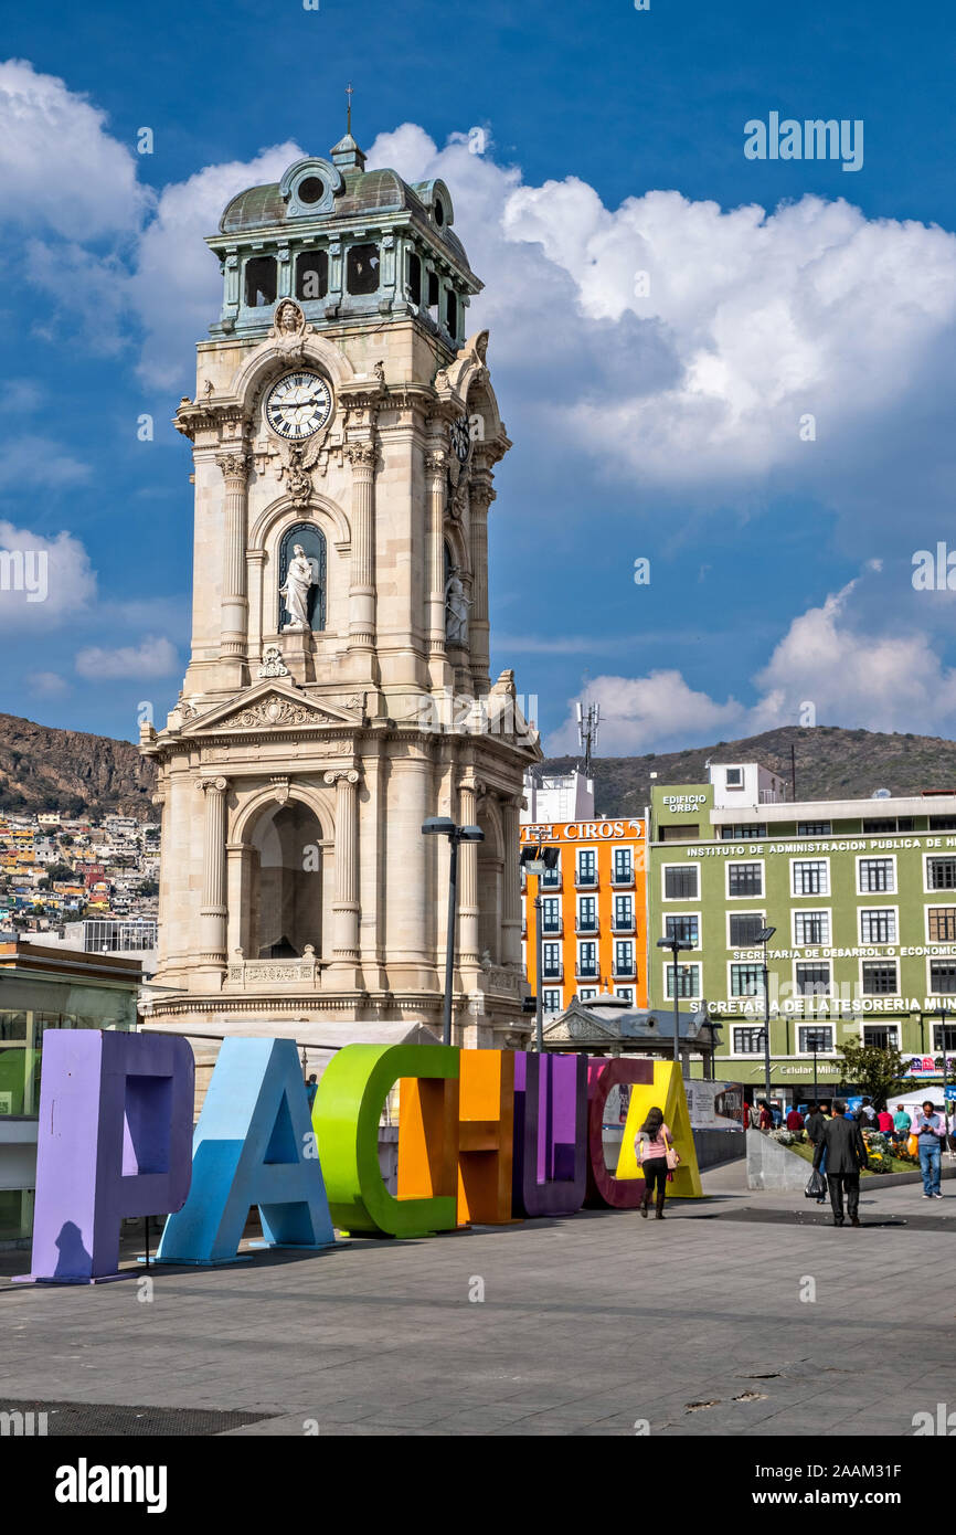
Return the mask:
<svg viewBox="0 0 956 1535">
<path fill-rule="evenodd" d="M 594 804 L 600 815 L 641 815 L 651 801 L 651 774 L 658 783 L 706 783 L 712 761 L 758 761 L 790 786 L 790 746 L 796 757 L 798 800 L 869 800 L 875 789 L 919 794 L 956 792 L 956 741 L 936 735 L 884 735 L 835 725 L 790 725 L 740 741 L 715 741 L 683 752 L 594 760 Z M 551 757 L 546 772 L 566 772 L 577 757 Z"/>
</svg>

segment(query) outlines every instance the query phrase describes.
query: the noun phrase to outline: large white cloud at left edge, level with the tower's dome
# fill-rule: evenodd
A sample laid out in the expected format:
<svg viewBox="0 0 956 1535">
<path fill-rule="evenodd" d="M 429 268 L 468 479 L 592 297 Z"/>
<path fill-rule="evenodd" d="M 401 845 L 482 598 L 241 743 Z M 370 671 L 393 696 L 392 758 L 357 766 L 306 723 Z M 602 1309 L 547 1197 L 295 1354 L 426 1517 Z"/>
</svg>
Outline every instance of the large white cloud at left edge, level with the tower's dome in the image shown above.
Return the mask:
<svg viewBox="0 0 956 1535">
<path fill-rule="evenodd" d="M 149 192 L 106 114 L 23 58 L 0 63 L 0 212 L 86 239 L 138 227 Z"/>
</svg>

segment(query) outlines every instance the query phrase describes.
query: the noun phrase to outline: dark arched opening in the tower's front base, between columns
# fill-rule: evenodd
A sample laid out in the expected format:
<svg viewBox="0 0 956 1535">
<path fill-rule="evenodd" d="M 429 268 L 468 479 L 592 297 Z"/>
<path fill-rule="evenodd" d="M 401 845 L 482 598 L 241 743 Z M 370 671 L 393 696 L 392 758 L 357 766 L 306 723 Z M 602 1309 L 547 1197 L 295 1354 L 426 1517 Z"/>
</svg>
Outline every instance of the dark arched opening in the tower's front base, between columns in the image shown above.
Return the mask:
<svg viewBox="0 0 956 1535">
<path fill-rule="evenodd" d="M 322 826 L 298 800 L 256 823 L 249 858 L 253 959 L 299 958 L 305 944 L 322 952 Z"/>
</svg>

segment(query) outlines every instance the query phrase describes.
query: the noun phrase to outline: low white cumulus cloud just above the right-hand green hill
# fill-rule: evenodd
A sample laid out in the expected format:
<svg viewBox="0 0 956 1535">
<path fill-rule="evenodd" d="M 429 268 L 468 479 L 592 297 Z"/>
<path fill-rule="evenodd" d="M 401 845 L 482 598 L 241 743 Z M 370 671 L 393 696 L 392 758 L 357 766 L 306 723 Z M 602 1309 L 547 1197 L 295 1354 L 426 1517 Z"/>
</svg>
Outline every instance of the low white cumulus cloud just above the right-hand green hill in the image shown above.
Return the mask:
<svg viewBox="0 0 956 1535">
<path fill-rule="evenodd" d="M 858 586 L 849 582 L 793 619 L 755 674 L 750 705 L 697 692 L 680 671 L 594 678 L 579 697 L 600 705 L 602 751 L 643 755 L 798 723 L 930 735 L 956 728 L 956 669 L 918 629 L 859 628 L 852 611 Z M 577 751 L 575 705 L 571 698 L 565 723 L 548 738 L 552 755 Z"/>
</svg>

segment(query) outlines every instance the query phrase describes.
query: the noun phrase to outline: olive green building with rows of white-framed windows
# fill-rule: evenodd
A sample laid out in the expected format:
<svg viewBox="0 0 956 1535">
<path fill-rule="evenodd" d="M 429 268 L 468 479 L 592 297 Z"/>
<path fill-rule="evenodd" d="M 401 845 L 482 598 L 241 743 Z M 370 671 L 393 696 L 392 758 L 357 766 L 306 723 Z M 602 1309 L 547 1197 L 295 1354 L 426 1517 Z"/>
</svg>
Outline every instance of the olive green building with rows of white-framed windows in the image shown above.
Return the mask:
<svg viewBox="0 0 956 1535">
<path fill-rule="evenodd" d="M 720 1025 L 718 1078 L 763 1096 L 764 949 L 772 1090 L 783 1107 L 842 1081 L 842 1044 L 896 1044 L 911 1085 L 942 1084 L 956 1047 L 956 792 L 793 801 L 757 763 L 714 763 L 701 784 L 652 787 L 648 824 L 648 990 Z M 945 1038 L 944 1038 L 945 1036 Z M 956 1061 L 948 1058 L 947 1073 Z M 700 1062 L 692 1073 L 700 1074 Z"/>
</svg>

